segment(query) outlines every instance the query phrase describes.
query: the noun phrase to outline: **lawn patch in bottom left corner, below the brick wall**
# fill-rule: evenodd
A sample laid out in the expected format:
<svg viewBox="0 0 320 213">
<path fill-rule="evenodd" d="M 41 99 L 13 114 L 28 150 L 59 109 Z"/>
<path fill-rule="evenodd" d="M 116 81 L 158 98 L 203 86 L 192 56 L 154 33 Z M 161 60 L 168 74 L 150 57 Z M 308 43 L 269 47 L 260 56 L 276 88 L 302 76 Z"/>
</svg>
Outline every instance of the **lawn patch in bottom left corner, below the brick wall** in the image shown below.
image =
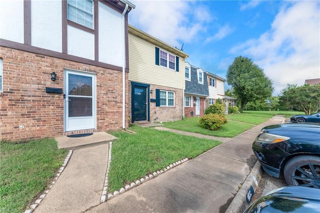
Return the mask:
<svg viewBox="0 0 320 213">
<path fill-rule="evenodd" d="M 0 142 L 0 210 L 23 212 L 46 189 L 66 154 L 54 139 Z"/>
</svg>

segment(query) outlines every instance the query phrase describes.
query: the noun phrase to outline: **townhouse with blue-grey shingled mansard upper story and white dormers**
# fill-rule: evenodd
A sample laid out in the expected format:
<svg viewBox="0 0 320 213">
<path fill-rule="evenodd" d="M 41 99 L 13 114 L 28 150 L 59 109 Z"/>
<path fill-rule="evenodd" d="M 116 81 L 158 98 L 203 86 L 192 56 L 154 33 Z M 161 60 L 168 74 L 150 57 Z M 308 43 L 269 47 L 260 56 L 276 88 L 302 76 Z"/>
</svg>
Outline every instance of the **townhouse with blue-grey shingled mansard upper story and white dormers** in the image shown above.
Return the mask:
<svg viewBox="0 0 320 213">
<path fill-rule="evenodd" d="M 184 117 L 202 116 L 209 96 L 207 75 L 202 68 L 185 63 Z"/>
</svg>

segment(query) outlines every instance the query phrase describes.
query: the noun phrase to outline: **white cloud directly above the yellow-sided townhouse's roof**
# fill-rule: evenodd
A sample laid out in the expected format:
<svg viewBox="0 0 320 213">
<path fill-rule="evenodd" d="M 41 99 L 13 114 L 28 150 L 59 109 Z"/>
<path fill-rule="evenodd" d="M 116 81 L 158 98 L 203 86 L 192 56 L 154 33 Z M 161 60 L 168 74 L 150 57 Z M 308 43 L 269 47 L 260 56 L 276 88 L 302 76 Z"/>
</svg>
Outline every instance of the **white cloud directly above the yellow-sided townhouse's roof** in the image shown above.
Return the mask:
<svg viewBox="0 0 320 213">
<path fill-rule="evenodd" d="M 194 1 L 131 2 L 136 7 L 130 12 L 129 24 L 172 46 L 180 46 L 179 41 L 193 42 L 199 39 L 199 33 L 206 31 L 206 23 L 214 18 L 207 7 Z"/>
</svg>

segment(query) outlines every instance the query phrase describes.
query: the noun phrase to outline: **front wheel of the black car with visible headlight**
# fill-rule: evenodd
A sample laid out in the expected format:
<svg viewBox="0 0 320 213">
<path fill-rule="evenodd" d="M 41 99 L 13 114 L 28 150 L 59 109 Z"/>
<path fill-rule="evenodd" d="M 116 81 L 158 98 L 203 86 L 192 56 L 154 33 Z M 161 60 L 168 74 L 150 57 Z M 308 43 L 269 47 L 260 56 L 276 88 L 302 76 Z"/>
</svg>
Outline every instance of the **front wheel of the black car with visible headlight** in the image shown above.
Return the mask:
<svg viewBox="0 0 320 213">
<path fill-rule="evenodd" d="M 283 176 L 288 185 L 320 189 L 320 157 L 302 155 L 290 159 Z"/>
</svg>

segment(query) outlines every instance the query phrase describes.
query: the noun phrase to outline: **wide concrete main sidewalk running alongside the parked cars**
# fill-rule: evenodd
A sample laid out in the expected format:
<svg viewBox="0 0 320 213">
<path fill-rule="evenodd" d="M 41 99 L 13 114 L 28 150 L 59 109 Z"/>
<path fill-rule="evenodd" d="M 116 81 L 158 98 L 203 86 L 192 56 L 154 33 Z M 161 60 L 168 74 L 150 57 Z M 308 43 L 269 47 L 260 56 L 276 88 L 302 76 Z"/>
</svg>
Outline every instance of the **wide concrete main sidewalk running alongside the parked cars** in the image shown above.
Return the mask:
<svg viewBox="0 0 320 213">
<path fill-rule="evenodd" d="M 282 120 L 274 116 L 87 213 L 224 213 L 256 162 L 254 138 Z"/>
</svg>

